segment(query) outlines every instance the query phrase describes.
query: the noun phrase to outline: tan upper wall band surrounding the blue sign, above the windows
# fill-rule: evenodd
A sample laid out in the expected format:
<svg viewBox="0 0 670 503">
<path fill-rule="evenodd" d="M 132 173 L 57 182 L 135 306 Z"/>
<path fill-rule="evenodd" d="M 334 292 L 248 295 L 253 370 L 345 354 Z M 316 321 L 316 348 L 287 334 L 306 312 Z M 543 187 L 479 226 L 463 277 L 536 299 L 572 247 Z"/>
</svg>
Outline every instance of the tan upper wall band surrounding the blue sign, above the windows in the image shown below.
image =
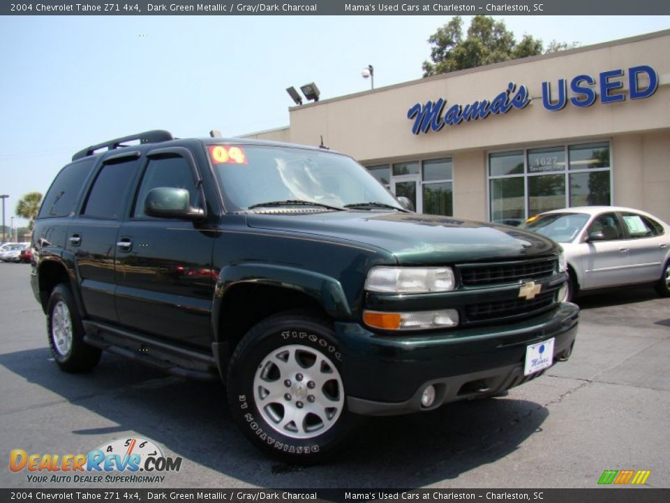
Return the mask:
<svg viewBox="0 0 670 503">
<path fill-rule="evenodd" d="M 670 114 L 664 112 L 670 110 L 669 52 L 670 33 L 622 45 L 595 46 L 591 50 L 485 66 L 322 101 L 291 109 L 290 138 L 295 143 L 314 145 L 322 135 L 330 147 L 368 162 L 670 128 Z M 542 106 L 544 80 L 555 88 L 559 78 L 565 78 L 569 84 L 575 75 L 585 73 L 599 81 L 598 73 L 623 68 L 627 88 L 627 69 L 641 64 L 652 66 L 664 76 L 664 84 L 648 99 L 606 104 L 597 101 L 588 108 L 568 104 L 556 112 Z M 415 103 L 441 97 L 447 100 L 446 110 L 455 103 L 490 101 L 507 89 L 508 82 L 526 85 L 534 97 L 523 110 L 513 108 L 505 115 L 445 126 L 437 133 L 412 134 L 412 121 L 406 115 Z M 600 95 L 599 87 L 594 88 Z M 572 96 L 569 90 L 568 96 Z"/>
</svg>

